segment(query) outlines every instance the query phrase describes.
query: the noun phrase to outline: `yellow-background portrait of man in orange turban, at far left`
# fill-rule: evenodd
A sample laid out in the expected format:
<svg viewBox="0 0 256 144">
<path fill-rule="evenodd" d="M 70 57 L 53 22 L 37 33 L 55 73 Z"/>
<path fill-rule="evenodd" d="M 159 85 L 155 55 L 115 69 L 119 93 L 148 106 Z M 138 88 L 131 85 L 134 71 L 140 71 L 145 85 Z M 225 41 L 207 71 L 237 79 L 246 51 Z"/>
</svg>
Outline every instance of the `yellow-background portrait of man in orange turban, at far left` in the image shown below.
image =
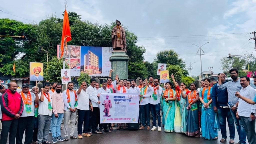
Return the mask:
<svg viewBox="0 0 256 144">
<path fill-rule="evenodd" d="M 44 80 L 44 64 L 30 62 L 30 80 Z"/>
</svg>

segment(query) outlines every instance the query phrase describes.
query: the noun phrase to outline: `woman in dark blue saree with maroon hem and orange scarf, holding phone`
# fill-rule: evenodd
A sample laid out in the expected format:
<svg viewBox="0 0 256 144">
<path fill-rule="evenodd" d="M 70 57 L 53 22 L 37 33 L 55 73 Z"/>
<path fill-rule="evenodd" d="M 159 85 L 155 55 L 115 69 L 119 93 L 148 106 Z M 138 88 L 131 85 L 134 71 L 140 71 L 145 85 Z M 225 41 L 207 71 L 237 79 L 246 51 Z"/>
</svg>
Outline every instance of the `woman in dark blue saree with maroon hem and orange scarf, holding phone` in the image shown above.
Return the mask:
<svg viewBox="0 0 256 144">
<path fill-rule="evenodd" d="M 186 119 L 186 135 L 190 137 L 200 137 L 200 129 L 198 123 L 198 99 L 199 92 L 196 90 L 196 84 L 190 84 L 190 90 L 182 97 L 187 99 L 187 119 Z"/>
</svg>

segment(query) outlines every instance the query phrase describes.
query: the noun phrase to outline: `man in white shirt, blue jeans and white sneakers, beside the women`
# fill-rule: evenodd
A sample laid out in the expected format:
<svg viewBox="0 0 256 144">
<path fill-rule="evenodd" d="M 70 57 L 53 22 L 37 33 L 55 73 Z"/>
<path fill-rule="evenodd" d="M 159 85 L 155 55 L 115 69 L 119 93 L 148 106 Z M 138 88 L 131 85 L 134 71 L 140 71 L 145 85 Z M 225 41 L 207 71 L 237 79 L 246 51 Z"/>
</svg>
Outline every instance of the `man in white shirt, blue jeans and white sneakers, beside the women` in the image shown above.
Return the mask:
<svg viewBox="0 0 256 144">
<path fill-rule="evenodd" d="M 161 115 L 160 115 L 160 100 L 161 100 L 161 95 L 162 95 L 163 88 L 158 85 L 158 78 L 154 79 L 154 85 L 153 85 L 153 90 L 151 93 L 151 97 L 149 100 L 150 103 L 150 110 L 152 114 L 152 119 L 153 119 L 153 128 L 151 129 L 152 131 L 156 130 L 156 118 L 157 118 L 157 123 L 158 123 L 158 131 L 162 131 L 161 129 Z"/>
</svg>

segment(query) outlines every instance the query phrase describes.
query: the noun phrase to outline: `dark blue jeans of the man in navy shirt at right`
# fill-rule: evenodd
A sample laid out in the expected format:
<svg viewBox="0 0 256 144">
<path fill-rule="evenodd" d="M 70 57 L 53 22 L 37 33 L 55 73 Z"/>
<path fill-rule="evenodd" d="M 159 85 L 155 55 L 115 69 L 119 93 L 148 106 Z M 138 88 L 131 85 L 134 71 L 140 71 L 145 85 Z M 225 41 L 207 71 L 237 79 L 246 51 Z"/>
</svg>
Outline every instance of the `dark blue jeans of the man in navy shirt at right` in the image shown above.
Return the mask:
<svg viewBox="0 0 256 144">
<path fill-rule="evenodd" d="M 218 117 L 220 122 L 220 130 L 222 138 L 227 138 L 227 129 L 226 129 L 226 120 L 228 121 L 228 128 L 229 128 L 229 138 L 234 139 L 235 138 L 235 125 L 234 125 L 234 119 L 231 115 L 229 108 L 221 108 L 218 107 Z"/>
</svg>

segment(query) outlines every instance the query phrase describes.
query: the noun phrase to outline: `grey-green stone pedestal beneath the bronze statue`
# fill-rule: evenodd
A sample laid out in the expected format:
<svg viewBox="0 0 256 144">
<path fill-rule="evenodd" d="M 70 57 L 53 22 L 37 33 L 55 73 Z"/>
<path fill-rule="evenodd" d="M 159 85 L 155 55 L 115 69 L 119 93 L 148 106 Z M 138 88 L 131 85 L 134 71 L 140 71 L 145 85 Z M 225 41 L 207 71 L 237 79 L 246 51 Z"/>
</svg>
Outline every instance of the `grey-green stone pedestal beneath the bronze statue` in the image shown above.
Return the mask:
<svg viewBox="0 0 256 144">
<path fill-rule="evenodd" d="M 127 79 L 129 56 L 126 55 L 126 52 L 124 50 L 115 50 L 109 60 L 111 61 L 111 69 L 113 69 L 111 74 L 113 80 L 116 74 L 118 74 L 119 79 Z"/>
</svg>

